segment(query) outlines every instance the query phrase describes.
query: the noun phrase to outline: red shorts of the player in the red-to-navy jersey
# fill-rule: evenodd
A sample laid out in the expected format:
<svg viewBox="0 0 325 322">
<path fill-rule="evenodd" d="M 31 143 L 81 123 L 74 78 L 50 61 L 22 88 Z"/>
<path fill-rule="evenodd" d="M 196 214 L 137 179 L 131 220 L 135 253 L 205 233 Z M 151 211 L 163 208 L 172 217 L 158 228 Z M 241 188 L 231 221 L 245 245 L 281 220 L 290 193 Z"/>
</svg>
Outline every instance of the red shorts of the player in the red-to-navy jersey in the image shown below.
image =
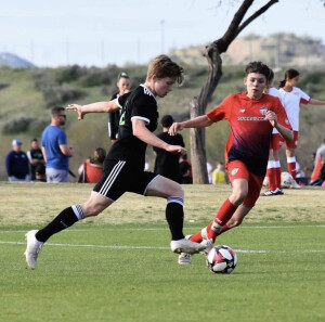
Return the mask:
<svg viewBox="0 0 325 322">
<path fill-rule="evenodd" d="M 231 183 L 235 179 L 246 179 L 248 181 L 248 193 L 243 204 L 252 208 L 260 196 L 264 177 L 249 172 L 246 165 L 240 160 L 229 163 L 226 165 L 226 171 Z"/>
</svg>

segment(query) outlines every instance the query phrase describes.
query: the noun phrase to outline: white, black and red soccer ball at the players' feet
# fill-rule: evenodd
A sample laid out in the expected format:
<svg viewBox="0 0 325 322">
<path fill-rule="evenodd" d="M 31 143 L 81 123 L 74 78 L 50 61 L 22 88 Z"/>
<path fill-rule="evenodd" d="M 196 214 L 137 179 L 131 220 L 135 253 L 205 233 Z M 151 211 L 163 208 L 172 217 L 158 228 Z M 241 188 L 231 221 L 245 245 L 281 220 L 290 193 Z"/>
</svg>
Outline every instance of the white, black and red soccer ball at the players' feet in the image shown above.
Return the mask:
<svg viewBox="0 0 325 322">
<path fill-rule="evenodd" d="M 237 255 L 226 245 L 218 245 L 207 255 L 207 266 L 212 273 L 230 274 L 236 265 Z"/>
</svg>

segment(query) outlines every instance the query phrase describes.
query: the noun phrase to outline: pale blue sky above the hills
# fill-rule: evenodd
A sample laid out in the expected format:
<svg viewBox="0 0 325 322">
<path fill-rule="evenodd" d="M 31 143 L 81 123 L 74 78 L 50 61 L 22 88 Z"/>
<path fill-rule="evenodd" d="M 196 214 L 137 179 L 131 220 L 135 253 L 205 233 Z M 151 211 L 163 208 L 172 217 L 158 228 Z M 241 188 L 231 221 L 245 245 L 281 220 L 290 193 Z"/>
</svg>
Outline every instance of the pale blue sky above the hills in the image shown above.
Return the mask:
<svg viewBox="0 0 325 322">
<path fill-rule="evenodd" d="M 0 0 L 0 53 L 39 67 L 146 64 L 223 36 L 239 0 Z M 253 13 L 268 0 L 256 0 Z M 247 16 L 246 16 L 247 17 Z M 280 0 L 240 36 L 294 33 L 325 43 L 321 0 Z"/>
</svg>

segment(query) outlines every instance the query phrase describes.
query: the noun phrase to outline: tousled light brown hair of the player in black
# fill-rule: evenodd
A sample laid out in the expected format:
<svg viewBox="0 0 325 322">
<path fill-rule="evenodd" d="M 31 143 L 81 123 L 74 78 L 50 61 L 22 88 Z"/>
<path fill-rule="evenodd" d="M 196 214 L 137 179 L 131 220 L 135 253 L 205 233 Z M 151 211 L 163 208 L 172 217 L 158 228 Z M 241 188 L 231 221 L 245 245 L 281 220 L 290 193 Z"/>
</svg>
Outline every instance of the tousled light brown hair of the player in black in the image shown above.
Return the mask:
<svg viewBox="0 0 325 322">
<path fill-rule="evenodd" d="M 156 75 L 157 78 L 170 77 L 176 79 L 176 82 L 182 83 L 184 79 L 183 72 L 183 67 L 179 66 L 169 56 L 159 55 L 151 62 L 147 68 L 146 80 Z"/>
</svg>

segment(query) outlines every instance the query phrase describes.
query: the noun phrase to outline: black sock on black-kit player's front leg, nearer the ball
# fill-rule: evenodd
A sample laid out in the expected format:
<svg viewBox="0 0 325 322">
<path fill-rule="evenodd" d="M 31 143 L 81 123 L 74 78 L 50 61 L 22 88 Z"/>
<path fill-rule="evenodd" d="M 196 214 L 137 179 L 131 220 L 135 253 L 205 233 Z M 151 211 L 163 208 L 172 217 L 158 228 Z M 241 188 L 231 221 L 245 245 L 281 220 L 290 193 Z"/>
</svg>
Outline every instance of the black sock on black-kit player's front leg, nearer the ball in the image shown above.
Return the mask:
<svg viewBox="0 0 325 322">
<path fill-rule="evenodd" d="M 166 219 L 171 232 L 171 240 L 179 241 L 184 239 L 183 221 L 184 211 L 183 206 L 178 203 L 168 203 L 166 207 Z"/>
</svg>

